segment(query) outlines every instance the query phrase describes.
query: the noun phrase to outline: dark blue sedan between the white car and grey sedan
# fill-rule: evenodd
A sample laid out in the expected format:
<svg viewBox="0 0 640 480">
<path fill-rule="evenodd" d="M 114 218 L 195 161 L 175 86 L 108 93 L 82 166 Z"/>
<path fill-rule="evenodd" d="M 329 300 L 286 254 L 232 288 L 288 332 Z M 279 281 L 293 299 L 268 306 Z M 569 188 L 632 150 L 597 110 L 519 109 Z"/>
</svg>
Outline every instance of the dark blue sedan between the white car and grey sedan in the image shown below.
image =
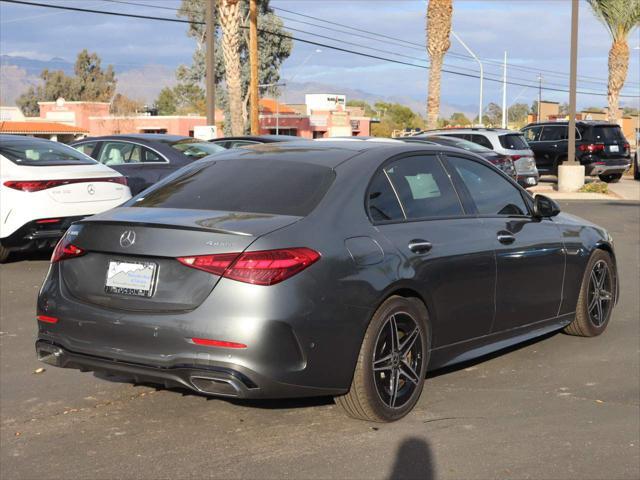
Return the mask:
<svg viewBox="0 0 640 480">
<path fill-rule="evenodd" d="M 224 151 L 193 137 L 157 133 L 89 137 L 71 146 L 127 177 L 133 195 L 194 160 Z"/>
</svg>

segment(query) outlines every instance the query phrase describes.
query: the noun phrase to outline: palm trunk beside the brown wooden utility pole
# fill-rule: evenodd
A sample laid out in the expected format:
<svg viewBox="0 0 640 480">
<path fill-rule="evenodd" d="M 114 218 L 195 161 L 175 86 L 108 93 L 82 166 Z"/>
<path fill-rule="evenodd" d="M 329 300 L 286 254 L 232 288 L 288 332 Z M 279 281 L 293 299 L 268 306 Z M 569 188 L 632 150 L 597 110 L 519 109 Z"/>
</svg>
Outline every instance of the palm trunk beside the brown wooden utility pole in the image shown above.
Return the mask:
<svg viewBox="0 0 640 480">
<path fill-rule="evenodd" d="M 239 0 L 218 0 L 218 15 L 222 30 L 222 56 L 231 113 L 231 133 L 232 135 L 243 135 L 242 69 L 240 65 L 242 17 Z"/>
</svg>

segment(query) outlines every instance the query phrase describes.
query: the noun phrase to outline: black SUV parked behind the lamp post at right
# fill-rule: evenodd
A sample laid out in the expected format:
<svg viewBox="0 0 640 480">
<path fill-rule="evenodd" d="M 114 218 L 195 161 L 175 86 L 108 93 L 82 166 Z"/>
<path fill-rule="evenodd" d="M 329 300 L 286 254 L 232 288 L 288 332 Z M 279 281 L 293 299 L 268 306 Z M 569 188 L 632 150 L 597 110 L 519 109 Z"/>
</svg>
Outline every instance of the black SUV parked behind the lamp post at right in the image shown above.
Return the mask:
<svg viewBox="0 0 640 480">
<path fill-rule="evenodd" d="M 558 174 L 567 159 L 568 122 L 531 123 L 522 129 L 536 157 L 540 173 Z M 576 122 L 576 158 L 587 175 L 603 182 L 617 182 L 631 164 L 629 142 L 619 125 L 607 122 Z"/>
</svg>

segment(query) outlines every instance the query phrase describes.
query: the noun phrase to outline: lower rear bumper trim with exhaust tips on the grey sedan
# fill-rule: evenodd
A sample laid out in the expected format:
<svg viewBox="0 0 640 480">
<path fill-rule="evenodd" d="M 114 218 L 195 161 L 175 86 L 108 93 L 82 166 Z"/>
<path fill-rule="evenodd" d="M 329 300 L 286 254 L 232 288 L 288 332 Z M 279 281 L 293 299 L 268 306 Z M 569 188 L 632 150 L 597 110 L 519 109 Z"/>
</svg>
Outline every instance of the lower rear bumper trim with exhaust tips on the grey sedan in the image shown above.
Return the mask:
<svg viewBox="0 0 640 480">
<path fill-rule="evenodd" d="M 290 385 L 266 378 L 240 365 L 176 365 L 157 367 L 71 352 L 47 339 L 36 342 L 38 360 L 48 365 L 117 375 L 135 383 L 186 388 L 204 395 L 234 398 L 293 398 L 339 395 L 340 389 Z"/>
</svg>

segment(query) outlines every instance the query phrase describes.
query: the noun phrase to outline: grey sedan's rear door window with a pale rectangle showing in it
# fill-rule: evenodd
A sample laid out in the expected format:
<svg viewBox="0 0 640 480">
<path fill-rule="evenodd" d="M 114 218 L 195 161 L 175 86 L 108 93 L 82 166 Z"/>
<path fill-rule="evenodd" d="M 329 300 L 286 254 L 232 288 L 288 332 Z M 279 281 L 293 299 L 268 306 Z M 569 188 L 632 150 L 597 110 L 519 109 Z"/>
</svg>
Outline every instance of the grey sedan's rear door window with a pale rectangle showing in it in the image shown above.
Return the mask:
<svg viewBox="0 0 640 480">
<path fill-rule="evenodd" d="M 464 215 L 440 161 L 433 155 L 399 159 L 384 169 L 409 220 Z"/>
</svg>

